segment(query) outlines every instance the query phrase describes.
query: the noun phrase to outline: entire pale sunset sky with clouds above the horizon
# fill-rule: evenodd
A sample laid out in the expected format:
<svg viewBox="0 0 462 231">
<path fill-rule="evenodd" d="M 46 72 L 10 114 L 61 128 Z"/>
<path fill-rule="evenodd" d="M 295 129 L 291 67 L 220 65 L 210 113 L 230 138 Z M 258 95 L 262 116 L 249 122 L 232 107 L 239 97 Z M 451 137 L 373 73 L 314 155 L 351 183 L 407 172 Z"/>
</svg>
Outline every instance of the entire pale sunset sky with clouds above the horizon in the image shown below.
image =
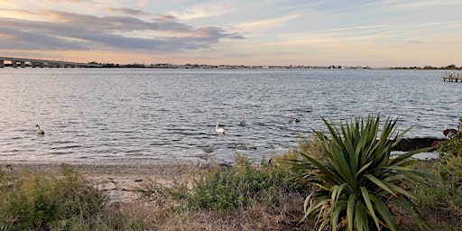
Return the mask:
<svg viewBox="0 0 462 231">
<path fill-rule="evenodd" d="M 462 66 L 460 0 L 0 0 L 0 57 Z"/>
</svg>

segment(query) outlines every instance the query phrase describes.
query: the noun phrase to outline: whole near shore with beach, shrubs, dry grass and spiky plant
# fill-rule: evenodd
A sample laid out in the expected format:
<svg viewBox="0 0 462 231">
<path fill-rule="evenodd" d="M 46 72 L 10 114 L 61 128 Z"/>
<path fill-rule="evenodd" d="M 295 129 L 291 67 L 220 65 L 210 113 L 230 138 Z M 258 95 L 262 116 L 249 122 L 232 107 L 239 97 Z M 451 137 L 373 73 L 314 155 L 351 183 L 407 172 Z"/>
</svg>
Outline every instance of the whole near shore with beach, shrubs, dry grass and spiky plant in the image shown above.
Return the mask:
<svg viewBox="0 0 462 231">
<path fill-rule="evenodd" d="M 412 150 L 379 115 L 300 136 L 261 164 L 6 164 L 0 230 L 461 230 L 462 118 Z"/>
</svg>

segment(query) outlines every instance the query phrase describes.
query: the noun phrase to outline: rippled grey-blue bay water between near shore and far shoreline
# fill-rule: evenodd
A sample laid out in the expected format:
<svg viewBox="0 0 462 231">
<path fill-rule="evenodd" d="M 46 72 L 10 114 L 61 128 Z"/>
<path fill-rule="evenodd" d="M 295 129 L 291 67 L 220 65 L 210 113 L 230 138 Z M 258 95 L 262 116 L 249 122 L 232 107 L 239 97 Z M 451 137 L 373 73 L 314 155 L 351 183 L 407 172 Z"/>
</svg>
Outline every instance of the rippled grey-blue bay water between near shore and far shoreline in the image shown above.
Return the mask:
<svg viewBox="0 0 462 231">
<path fill-rule="evenodd" d="M 462 84 L 430 70 L 0 69 L 0 160 L 254 161 L 297 134 L 356 115 L 399 117 L 406 137 L 442 137 Z M 246 125 L 239 126 L 245 115 Z M 300 115 L 300 123 L 288 124 Z M 226 134 L 217 135 L 215 123 Z M 45 135 L 35 133 L 41 125 Z"/>
</svg>

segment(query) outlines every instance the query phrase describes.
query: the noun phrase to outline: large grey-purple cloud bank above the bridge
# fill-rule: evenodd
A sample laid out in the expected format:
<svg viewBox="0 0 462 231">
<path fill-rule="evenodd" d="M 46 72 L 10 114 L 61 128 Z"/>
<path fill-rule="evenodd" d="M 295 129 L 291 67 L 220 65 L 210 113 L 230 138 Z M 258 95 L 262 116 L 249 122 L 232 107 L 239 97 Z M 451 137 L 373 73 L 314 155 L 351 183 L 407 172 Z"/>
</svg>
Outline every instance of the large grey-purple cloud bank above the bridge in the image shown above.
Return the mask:
<svg viewBox="0 0 462 231">
<path fill-rule="evenodd" d="M 112 8 L 125 14 L 143 14 Z M 27 13 L 27 12 L 25 12 Z M 222 39 L 243 37 L 219 27 L 194 28 L 171 15 L 143 20 L 132 16 L 94 16 L 43 10 L 47 20 L 0 18 L 2 50 L 137 50 L 175 52 L 210 48 Z M 12 39 L 14 38 L 14 39 Z"/>
</svg>

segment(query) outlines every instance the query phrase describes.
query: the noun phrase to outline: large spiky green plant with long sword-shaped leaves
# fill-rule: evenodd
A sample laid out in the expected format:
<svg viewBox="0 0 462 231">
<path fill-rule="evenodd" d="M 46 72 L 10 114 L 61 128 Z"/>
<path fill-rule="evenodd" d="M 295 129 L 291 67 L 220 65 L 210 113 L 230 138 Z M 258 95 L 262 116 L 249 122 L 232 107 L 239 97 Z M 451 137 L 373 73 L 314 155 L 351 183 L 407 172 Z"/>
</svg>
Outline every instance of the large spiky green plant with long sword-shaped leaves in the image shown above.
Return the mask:
<svg viewBox="0 0 462 231">
<path fill-rule="evenodd" d="M 300 152 L 292 169 L 300 178 L 317 184 L 305 200 L 305 216 L 319 215 L 319 230 L 398 230 L 393 208 L 401 208 L 420 226 L 426 226 L 412 192 L 430 173 L 413 167 L 417 161 L 406 152 L 392 157 L 392 149 L 411 128 L 396 133 L 396 120 L 387 118 L 380 129 L 380 115 L 367 120 L 356 117 L 346 125 L 329 124 L 328 135 L 313 130 L 324 156 L 313 158 Z M 380 134 L 379 134 L 380 133 Z M 395 136 L 393 137 L 393 135 Z"/>
</svg>

